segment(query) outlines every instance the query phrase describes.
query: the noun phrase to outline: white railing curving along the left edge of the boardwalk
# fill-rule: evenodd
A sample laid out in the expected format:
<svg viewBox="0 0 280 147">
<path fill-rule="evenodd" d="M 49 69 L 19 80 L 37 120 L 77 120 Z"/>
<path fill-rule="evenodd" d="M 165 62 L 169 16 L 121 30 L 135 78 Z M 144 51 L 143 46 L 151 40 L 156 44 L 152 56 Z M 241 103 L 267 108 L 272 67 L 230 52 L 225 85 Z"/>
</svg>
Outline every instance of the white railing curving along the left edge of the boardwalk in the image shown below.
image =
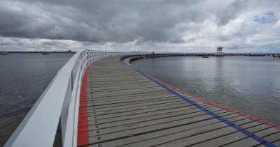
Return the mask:
<svg viewBox="0 0 280 147">
<path fill-rule="evenodd" d="M 59 120 L 63 146 L 77 146 L 80 86 L 85 69 L 110 56 L 151 54 L 148 52 L 77 52 L 57 72 L 22 123 L 4 146 L 52 146 Z"/>
</svg>

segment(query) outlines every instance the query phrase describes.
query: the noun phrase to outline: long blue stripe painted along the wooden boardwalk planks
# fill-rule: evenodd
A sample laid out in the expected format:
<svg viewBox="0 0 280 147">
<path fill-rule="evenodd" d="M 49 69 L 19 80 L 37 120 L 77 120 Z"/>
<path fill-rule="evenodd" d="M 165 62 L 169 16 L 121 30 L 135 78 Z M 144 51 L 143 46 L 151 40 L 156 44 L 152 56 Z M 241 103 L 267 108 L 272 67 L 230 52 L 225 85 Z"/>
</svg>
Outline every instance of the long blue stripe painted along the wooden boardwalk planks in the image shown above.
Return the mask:
<svg viewBox="0 0 280 147">
<path fill-rule="evenodd" d="M 120 59 L 120 61 L 122 63 L 124 63 L 123 60 L 126 59 L 125 57 Z M 127 65 L 126 63 L 124 63 L 124 64 Z M 247 137 L 251 137 L 251 139 L 254 139 L 255 141 L 258 141 L 260 144 L 262 144 L 264 146 L 276 147 L 274 144 L 270 143 L 269 141 L 266 141 L 265 139 L 262 139 L 262 137 L 258 137 L 257 135 L 253 134 L 252 132 L 249 132 L 248 130 L 244 129 L 243 127 L 240 127 L 239 125 L 236 125 L 235 123 L 232 123 L 231 121 L 228 121 L 227 119 L 223 118 L 222 116 L 219 116 L 218 114 L 215 114 L 213 111 L 210 111 L 210 110 L 200 106 L 196 102 L 193 102 L 193 100 L 188 99 L 186 96 L 181 95 L 180 93 L 177 93 L 176 91 L 172 90 L 172 88 L 169 88 L 168 86 L 165 86 L 164 84 L 161 84 L 160 82 L 156 81 L 155 79 L 152 79 L 151 77 L 148 77 L 146 74 L 144 74 L 144 72 L 141 72 L 140 70 L 137 70 L 133 66 L 130 66 L 130 65 L 127 65 L 127 66 L 129 66 L 130 68 L 132 68 L 136 72 L 139 72 L 141 75 L 143 75 L 147 79 L 150 79 L 155 84 L 158 84 L 159 86 L 162 86 L 163 88 L 165 88 L 170 93 L 173 93 L 174 95 L 178 96 L 182 100 L 185 100 L 186 102 L 190 103 L 190 105 L 193 105 L 193 106 L 197 107 L 198 109 L 200 109 L 200 110 L 204 111 L 205 113 L 213 116 L 214 118 L 218 119 L 219 121 L 221 121 L 221 122 L 227 124 L 228 126 L 234 128 L 238 132 L 241 132 L 241 133 L 245 134 Z"/>
</svg>

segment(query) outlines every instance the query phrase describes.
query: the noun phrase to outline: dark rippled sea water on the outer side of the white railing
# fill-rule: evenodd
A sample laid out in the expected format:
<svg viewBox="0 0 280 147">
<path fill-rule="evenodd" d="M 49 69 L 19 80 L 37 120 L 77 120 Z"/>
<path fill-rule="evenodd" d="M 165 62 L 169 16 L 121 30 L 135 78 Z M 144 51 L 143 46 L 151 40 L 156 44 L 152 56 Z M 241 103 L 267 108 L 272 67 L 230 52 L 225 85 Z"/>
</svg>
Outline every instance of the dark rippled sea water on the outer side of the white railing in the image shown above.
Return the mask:
<svg viewBox="0 0 280 147">
<path fill-rule="evenodd" d="M 0 56 L 0 146 L 71 56 L 71 53 Z"/>
</svg>

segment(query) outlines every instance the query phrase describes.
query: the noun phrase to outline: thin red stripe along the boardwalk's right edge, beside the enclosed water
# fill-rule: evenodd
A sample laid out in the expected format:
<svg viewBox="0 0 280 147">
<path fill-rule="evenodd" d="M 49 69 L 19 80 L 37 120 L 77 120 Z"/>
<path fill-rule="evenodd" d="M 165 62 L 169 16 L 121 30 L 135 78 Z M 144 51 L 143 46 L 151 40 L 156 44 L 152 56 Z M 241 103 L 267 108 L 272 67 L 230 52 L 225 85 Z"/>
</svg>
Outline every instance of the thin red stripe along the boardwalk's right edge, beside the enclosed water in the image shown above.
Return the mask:
<svg viewBox="0 0 280 147">
<path fill-rule="evenodd" d="M 147 74 L 146 74 L 146 75 L 147 75 Z M 147 76 L 148 76 L 148 77 L 151 77 L 150 75 L 147 75 Z M 269 125 L 269 126 L 272 126 L 272 127 L 276 127 L 277 129 L 280 129 L 280 125 L 276 125 L 276 124 L 274 124 L 274 123 L 269 123 L 268 121 L 264 121 L 264 120 L 262 120 L 262 119 L 260 119 L 260 118 L 255 117 L 255 116 L 251 116 L 251 115 L 249 115 L 249 114 L 244 114 L 244 113 L 241 112 L 241 111 L 237 111 L 237 110 L 235 110 L 235 109 L 230 109 L 230 108 L 225 107 L 225 106 L 223 106 L 223 105 L 217 104 L 216 102 L 212 102 L 212 101 L 207 100 L 207 99 L 205 99 L 205 98 L 200 98 L 200 97 L 198 97 L 198 96 L 196 96 L 196 95 L 192 95 L 192 94 L 190 94 L 190 93 L 187 93 L 186 91 L 182 91 L 182 90 L 179 89 L 179 88 L 176 88 L 176 87 L 171 86 L 171 85 L 169 85 L 169 84 L 167 84 L 167 83 L 165 83 L 165 82 L 162 82 L 162 81 L 160 81 L 160 79 L 156 79 L 155 77 L 151 77 L 151 78 L 154 79 L 154 80 L 157 81 L 157 82 L 160 82 L 161 84 L 164 84 L 165 86 L 168 86 L 169 88 L 172 88 L 174 91 L 178 91 L 179 93 L 183 93 L 183 94 L 185 94 L 185 95 L 191 96 L 191 97 L 196 98 L 196 99 L 198 99 L 198 100 L 202 100 L 203 102 L 207 102 L 207 103 L 209 103 L 209 104 L 211 104 L 211 105 L 215 105 L 215 106 L 220 107 L 220 108 L 222 108 L 222 109 L 226 109 L 226 110 L 228 110 L 228 111 L 235 112 L 236 114 L 239 114 L 239 115 L 241 115 L 241 116 L 245 116 L 245 117 L 251 118 L 252 120 L 258 121 L 258 122 L 263 123 L 263 124 L 265 124 L 265 125 Z"/>
</svg>

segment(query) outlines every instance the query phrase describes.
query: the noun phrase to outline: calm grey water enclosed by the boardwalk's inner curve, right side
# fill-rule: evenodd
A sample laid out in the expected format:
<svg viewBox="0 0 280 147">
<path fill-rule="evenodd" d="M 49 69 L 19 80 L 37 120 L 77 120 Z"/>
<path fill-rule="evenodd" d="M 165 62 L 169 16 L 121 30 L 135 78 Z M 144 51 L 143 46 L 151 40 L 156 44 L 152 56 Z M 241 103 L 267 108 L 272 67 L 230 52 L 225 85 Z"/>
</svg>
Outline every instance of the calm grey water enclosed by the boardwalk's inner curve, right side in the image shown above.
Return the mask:
<svg viewBox="0 0 280 147">
<path fill-rule="evenodd" d="M 280 59 L 171 57 L 133 64 L 183 91 L 280 125 Z"/>
</svg>

